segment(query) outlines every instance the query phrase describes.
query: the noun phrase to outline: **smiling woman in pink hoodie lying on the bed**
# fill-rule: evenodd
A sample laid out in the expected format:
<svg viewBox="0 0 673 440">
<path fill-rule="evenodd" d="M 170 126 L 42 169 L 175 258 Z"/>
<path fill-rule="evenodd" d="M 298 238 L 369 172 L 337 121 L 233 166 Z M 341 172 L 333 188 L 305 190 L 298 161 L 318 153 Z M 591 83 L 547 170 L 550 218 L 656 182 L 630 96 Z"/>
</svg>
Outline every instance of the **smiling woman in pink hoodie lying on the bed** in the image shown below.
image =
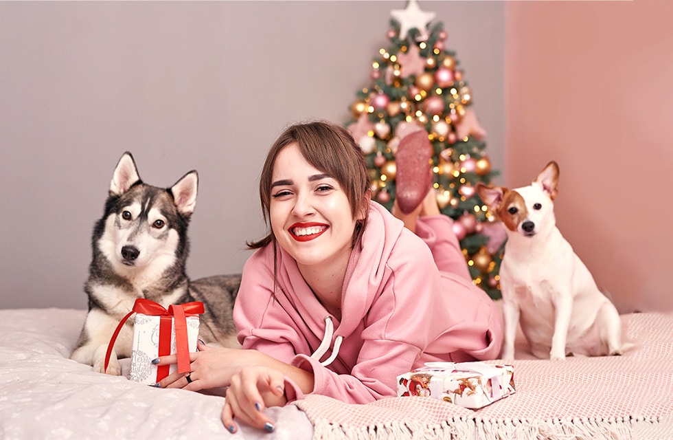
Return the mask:
<svg viewBox="0 0 673 440">
<path fill-rule="evenodd" d="M 273 430 L 263 408 L 307 393 L 366 403 L 396 395 L 396 377 L 425 362 L 497 358 L 501 316 L 472 285 L 433 192 L 408 214 L 396 206 L 402 221 L 370 201 L 363 153 L 345 129 L 286 129 L 260 197 L 271 231 L 250 244 L 233 311 L 244 350 L 199 344 L 190 377 L 161 386 L 229 386 L 225 426 L 235 432 L 236 416 Z"/>
</svg>

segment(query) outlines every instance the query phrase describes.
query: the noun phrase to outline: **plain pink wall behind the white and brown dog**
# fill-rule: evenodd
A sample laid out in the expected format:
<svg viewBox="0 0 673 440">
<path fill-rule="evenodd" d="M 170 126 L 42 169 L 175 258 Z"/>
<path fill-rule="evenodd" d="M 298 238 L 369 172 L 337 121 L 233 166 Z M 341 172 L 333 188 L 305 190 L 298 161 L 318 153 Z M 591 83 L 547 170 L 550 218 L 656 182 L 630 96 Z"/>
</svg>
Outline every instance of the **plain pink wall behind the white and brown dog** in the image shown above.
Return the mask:
<svg viewBox="0 0 673 440">
<path fill-rule="evenodd" d="M 673 307 L 673 2 L 507 2 L 505 169 L 560 165 L 557 224 L 622 312 Z"/>
</svg>

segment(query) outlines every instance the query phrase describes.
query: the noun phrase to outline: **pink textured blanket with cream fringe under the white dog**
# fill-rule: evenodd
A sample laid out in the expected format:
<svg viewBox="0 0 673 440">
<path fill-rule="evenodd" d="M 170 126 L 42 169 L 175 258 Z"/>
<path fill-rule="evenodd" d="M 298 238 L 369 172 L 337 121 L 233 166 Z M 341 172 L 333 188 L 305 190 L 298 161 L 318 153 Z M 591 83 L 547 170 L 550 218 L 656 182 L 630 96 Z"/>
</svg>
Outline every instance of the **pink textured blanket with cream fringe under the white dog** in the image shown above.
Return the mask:
<svg viewBox="0 0 673 440">
<path fill-rule="evenodd" d="M 516 360 L 516 393 L 479 410 L 424 397 L 294 404 L 314 439 L 673 439 L 673 315 L 622 322 L 635 343 L 624 355 Z"/>
</svg>

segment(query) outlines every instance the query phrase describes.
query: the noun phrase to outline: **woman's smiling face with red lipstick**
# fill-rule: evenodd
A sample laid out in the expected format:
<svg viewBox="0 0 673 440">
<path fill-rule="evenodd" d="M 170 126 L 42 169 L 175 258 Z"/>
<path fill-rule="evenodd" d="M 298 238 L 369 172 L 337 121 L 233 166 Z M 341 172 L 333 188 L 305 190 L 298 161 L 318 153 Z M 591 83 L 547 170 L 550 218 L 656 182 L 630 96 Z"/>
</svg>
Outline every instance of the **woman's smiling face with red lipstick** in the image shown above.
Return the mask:
<svg viewBox="0 0 673 440">
<path fill-rule="evenodd" d="M 357 219 L 339 182 L 307 162 L 296 143 L 275 159 L 269 218 L 277 243 L 302 272 L 347 264 Z"/>
</svg>

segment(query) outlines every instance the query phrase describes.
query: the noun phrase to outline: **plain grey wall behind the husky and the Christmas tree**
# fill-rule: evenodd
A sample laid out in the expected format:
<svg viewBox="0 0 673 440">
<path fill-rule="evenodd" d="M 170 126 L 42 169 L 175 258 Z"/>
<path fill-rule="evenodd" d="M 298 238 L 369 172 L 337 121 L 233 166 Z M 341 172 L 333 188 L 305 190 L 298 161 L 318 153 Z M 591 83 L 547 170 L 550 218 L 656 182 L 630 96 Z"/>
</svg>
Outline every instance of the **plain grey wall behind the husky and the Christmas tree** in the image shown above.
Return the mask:
<svg viewBox="0 0 673 440">
<path fill-rule="evenodd" d="M 404 1 L 0 2 L 0 307 L 86 308 L 93 223 L 124 151 L 200 185 L 192 278 L 240 272 L 265 231 L 266 149 L 345 122 Z M 503 171 L 504 5 L 421 1 L 457 52 Z"/>
</svg>

